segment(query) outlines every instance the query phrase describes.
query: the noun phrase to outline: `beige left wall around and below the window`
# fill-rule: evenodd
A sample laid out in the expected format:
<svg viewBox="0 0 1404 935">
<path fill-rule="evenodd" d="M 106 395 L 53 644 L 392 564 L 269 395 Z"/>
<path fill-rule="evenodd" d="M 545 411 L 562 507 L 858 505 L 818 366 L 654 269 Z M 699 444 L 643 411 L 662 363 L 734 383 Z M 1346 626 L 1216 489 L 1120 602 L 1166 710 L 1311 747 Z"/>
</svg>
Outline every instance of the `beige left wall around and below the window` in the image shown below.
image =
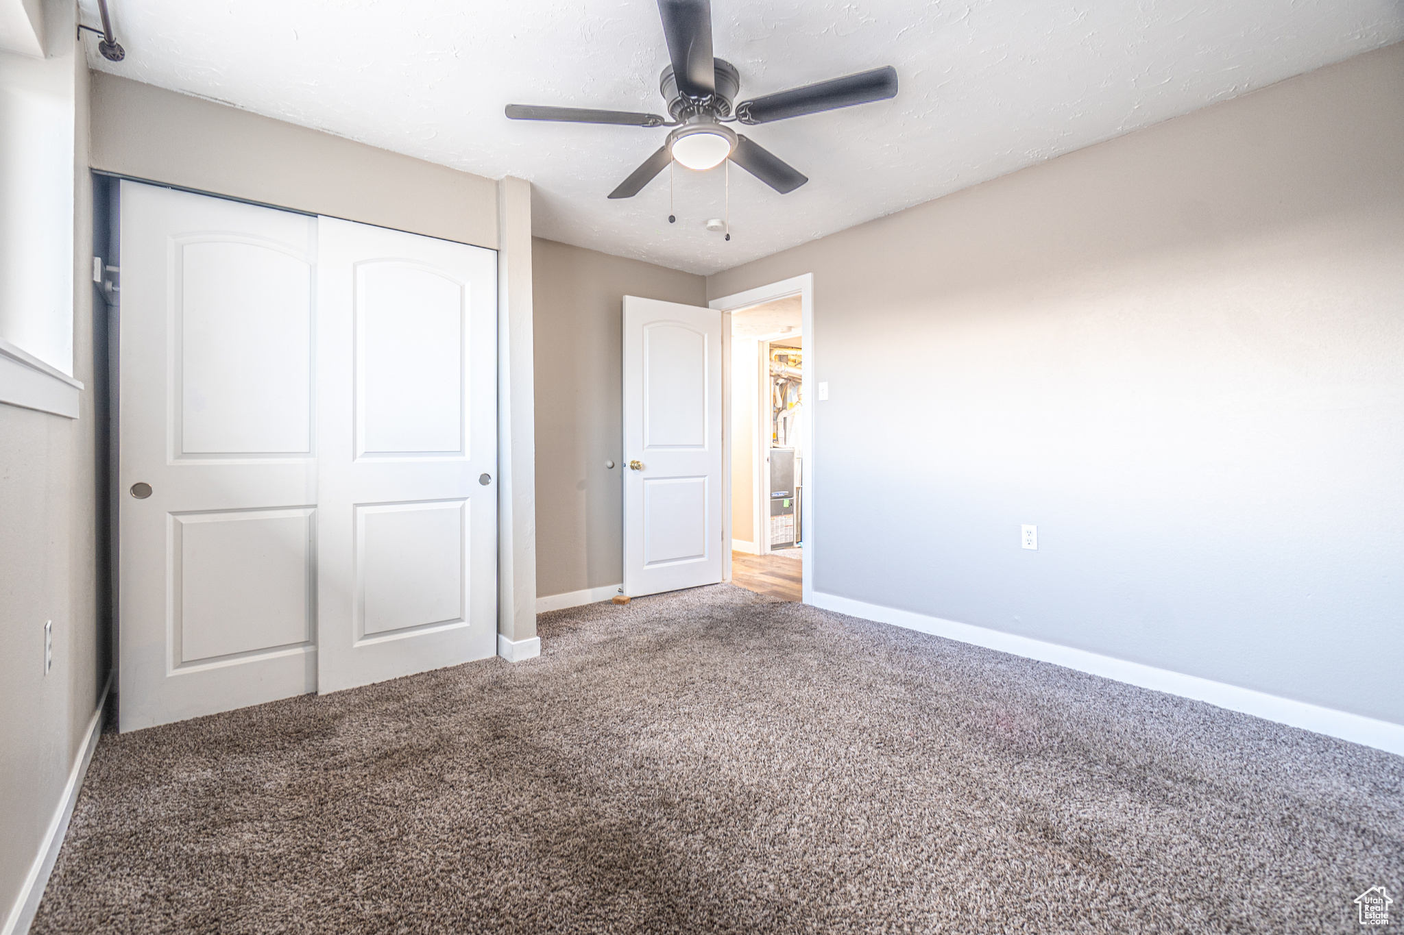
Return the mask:
<svg viewBox="0 0 1404 935">
<path fill-rule="evenodd" d="M 76 73 L 73 376 L 86 388 L 77 419 L 0 404 L 0 924 L 39 854 L 107 677 L 97 607 L 87 66 L 74 53 L 72 18 L 58 20 L 49 21 L 51 57 L 37 64 Z"/>
</svg>

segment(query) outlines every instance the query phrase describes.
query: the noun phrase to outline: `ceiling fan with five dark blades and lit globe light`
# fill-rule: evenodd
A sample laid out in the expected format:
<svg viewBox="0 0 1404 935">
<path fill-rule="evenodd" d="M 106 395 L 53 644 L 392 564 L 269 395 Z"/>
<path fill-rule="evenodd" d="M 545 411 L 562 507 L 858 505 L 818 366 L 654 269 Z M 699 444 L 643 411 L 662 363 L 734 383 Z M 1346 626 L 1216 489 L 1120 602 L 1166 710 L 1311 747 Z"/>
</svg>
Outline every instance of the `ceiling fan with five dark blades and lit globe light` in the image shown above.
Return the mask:
<svg viewBox="0 0 1404 935">
<path fill-rule="evenodd" d="M 804 114 L 835 111 L 854 104 L 885 101 L 897 94 L 897 70 L 892 66 L 847 74 L 789 91 L 776 91 L 734 108 L 741 76 L 730 62 L 712 57 L 712 4 L 709 0 L 658 0 L 663 35 L 673 64 L 663 70 L 663 97 L 671 121 L 657 114 L 591 111 L 574 107 L 529 107 L 508 104 L 514 121 L 562 121 L 569 123 L 616 123 L 622 126 L 673 126 L 658 151 L 633 170 L 609 198 L 633 198 L 673 160 L 696 171 L 731 160 L 781 195 L 809 181 L 795 167 L 758 143 L 723 123 L 769 123 Z"/>
</svg>

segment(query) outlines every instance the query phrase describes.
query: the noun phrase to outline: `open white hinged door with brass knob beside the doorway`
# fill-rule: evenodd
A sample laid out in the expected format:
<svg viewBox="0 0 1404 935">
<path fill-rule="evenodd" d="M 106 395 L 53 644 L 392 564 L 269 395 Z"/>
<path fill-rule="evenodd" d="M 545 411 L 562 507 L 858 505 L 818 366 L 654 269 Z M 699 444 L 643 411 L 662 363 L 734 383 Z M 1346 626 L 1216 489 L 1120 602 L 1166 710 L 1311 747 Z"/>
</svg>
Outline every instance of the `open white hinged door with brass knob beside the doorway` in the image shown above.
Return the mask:
<svg viewBox="0 0 1404 935">
<path fill-rule="evenodd" d="M 623 457 L 625 593 L 720 582 L 720 311 L 623 297 Z"/>
</svg>

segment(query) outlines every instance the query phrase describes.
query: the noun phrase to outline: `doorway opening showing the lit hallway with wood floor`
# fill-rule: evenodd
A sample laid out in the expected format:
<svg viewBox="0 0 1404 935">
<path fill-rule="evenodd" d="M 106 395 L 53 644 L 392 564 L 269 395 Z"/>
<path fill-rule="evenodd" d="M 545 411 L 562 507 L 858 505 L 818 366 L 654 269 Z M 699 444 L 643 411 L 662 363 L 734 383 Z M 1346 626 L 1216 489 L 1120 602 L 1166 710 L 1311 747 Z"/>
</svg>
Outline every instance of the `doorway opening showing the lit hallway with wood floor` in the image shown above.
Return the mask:
<svg viewBox="0 0 1404 935">
<path fill-rule="evenodd" d="M 731 582 L 802 600 L 804 562 L 803 299 L 733 308 Z"/>
</svg>

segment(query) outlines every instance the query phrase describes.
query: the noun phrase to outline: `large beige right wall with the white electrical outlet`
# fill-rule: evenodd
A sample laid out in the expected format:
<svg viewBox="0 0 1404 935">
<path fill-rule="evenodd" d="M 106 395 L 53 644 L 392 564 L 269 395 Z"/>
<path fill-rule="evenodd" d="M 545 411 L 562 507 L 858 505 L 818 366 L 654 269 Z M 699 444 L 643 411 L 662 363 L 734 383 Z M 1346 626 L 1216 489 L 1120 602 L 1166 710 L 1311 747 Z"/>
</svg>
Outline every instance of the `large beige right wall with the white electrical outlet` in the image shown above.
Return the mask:
<svg viewBox="0 0 1404 935">
<path fill-rule="evenodd" d="M 1401 101 L 1397 45 L 710 276 L 814 275 L 816 590 L 1404 722 Z"/>
</svg>

